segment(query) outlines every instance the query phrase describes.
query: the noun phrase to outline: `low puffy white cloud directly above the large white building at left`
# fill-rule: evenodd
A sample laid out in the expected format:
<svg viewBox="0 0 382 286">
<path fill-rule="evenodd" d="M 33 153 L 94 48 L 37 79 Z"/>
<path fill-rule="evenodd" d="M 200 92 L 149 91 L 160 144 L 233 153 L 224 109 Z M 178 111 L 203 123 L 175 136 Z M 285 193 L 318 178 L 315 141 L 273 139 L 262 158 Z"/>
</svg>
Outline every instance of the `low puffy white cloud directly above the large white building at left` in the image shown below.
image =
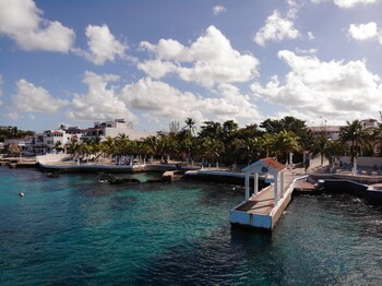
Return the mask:
<svg viewBox="0 0 382 286">
<path fill-rule="evenodd" d="M 134 121 L 135 116 L 127 108 L 116 88 L 108 86 L 118 80 L 119 76 L 114 74 L 85 72 L 83 82 L 88 87 L 87 93 L 74 95 L 68 117 L 77 120 L 124 118 Z"/>
</svg>

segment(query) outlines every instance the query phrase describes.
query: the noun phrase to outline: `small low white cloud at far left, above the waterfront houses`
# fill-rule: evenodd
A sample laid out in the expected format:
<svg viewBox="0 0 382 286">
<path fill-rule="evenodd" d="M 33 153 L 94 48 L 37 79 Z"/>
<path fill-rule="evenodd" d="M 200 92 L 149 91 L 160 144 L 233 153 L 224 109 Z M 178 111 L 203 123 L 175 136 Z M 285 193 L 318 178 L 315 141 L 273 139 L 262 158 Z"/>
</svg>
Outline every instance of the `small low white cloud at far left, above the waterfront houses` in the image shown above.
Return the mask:
<svg viewBox="0 0 382 286">
<path fill-rule="evenodd" d="M 69 104 L 67 100 L 52 97 L 47 90 L 37 87 L 24 79 L 19 80 L 16 85 L 17 94 L 12 96 L 12 100 L 17 111 L 52 114 Z"/>
</svg>

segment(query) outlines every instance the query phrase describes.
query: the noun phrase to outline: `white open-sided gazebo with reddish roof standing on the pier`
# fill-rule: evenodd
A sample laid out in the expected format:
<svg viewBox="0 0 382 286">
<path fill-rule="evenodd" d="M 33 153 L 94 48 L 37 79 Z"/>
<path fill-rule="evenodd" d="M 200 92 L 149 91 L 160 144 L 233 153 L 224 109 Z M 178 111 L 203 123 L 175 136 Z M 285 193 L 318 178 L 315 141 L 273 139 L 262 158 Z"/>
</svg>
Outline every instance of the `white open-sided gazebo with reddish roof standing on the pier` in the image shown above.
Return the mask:
<svg viewBox="0 0 382 286">
<path fill-rule="evenodd" d="M 276 159 L 267 157 L 242 169 L 246 172 L 246 202 L 250 199 L 250 176 L 253 174 L 253 193 L 259 192 L 259 174 L 265 174 L 265 182 L 274 183 L 274 205 L 277 205 L 278 196 L 284 195 L 284 171 L 286 166 Z M 279 195 L 278 195 L 279 193 Z"/>
</svg>

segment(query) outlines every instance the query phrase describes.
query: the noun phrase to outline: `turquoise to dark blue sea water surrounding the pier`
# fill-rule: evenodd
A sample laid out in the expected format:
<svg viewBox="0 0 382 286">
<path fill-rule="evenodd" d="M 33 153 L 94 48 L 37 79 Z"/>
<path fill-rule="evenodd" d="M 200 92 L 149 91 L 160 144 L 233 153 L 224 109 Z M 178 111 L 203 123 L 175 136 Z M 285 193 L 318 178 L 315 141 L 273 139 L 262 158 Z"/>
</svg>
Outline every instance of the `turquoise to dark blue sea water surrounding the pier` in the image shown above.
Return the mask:
<svg viewBox="0 0 382 286">
<path fill-rule="evenodd" d="M 242 198 L 0 167 L 0 285 L 381 285 L 380 206 L 296 196 L 270 235 L 231 227 Z"/>
</svg>

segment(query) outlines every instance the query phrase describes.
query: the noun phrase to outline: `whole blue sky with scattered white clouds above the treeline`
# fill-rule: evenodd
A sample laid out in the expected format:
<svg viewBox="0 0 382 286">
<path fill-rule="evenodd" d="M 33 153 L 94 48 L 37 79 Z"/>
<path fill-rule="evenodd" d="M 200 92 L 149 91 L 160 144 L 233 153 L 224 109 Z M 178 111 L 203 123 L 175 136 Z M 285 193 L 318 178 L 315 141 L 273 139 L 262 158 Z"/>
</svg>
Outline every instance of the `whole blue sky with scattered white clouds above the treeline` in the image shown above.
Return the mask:
<svg viewBox="0 0 382 286">
<path fill-rule="evenodd" d="M 380 119 L 382 0 L 0 0 L 0 126 Z"/>
</svg>

